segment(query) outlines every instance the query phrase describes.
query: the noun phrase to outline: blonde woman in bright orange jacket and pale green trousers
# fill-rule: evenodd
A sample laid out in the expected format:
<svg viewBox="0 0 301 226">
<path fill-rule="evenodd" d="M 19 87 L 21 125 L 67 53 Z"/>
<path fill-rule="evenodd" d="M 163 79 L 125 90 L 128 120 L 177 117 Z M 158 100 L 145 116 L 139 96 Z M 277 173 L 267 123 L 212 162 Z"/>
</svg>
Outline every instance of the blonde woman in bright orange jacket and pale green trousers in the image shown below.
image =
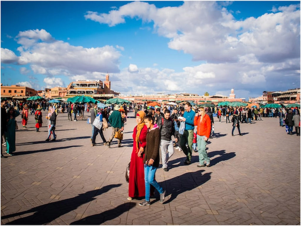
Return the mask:
<svg viewBox="0 0 301 226">
<path fill-rule="evenodd" d="M 194 125 L 197 126 L 197 149 L 199 152 L 199 162 L 197 167 L 210 166 L 210 159 L 206 151 L 207 140 L 211 132 L 211 120 L 206 114 L 205 109 L 200 107 L 194 116 Z"/>
</svg>

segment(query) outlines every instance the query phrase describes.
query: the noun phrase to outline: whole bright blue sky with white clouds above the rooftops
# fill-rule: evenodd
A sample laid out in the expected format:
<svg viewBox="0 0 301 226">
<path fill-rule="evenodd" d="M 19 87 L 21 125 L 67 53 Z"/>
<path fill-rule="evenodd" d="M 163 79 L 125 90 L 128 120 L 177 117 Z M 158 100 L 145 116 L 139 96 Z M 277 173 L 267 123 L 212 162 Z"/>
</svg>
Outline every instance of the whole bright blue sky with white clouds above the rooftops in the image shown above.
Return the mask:
<svg viewBox="0 0 301 226">
<path fill-rule="evenodd" d="M 124 95 L 300 87 L 300 4 L 2 1 L 1 83 L 104 80 Z"/>
</svg>

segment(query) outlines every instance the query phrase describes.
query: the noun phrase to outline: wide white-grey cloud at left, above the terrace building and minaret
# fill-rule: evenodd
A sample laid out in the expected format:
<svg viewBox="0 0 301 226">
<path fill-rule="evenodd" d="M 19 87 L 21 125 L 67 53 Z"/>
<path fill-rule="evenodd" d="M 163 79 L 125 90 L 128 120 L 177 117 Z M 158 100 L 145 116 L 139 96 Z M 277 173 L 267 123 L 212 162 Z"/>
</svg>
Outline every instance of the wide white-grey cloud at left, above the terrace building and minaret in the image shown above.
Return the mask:
<svg viewBox="0 0 301 226">
<path fill-rule="evenodd" d="M 9 49 L 1 48 L 2 63 L 29 64 L 36 74 L 48 77 L 55 75 L 75 76 L 77 74 L 119 72 L 122 46 L 84 48 L 68 42 L 55 40 L 46 30 L 20 31 L 16 36 L 20 56 Z M 23 70 L 23 69 L 22 69 Z"/>
</svg>

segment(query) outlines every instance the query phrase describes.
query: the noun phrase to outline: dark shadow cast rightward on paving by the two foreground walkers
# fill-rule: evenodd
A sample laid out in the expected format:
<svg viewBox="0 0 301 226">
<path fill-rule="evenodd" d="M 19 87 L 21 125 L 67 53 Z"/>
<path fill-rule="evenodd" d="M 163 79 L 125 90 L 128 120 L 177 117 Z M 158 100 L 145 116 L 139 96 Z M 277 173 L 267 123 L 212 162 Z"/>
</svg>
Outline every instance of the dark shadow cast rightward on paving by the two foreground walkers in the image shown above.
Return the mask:
<svg viewBox="0 0 301 226">
<path fill-rule="evenodd" d="M 163 202 L 163 204 L 169 203 L 174 200 L 179 194 L 190 191 L 198 186 L 206 183 L 211 178 L 211 172 L 202 175 L 205 170 L 199 170 L 196 172 L 189 172 L 182 174 L 178 177 L 174 177 L 162 182 L 162 187 L 166 188 L 165 195 L 171 195 L 170 199 Z M 160 183 L 161 184 L 161 183 Z"/>
</svg>

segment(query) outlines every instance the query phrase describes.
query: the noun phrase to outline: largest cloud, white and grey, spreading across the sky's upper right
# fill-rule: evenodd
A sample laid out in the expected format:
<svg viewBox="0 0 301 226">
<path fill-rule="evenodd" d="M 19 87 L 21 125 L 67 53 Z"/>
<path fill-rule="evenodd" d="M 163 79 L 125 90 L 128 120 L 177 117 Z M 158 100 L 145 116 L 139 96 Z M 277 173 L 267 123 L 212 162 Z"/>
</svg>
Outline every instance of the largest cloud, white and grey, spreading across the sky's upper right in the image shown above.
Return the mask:
<svg viewBox="0 0 301 226">
<path fill-rule="evenodd" d="M 196 61 L 237 62 L 239 56 L 249 54 L 264 62 L 299 57 L 299 4 L 239 21 L 222 4 L 188 1 L 156 8 L 147 2 L 130 2 L 107 14 L 88 11 L 85 18 L 109 26 L 125 23 L 126 17 L 153 22 L 156 32 L 170 39 L 169 48 L 189 53 Z"/>
</svg>

